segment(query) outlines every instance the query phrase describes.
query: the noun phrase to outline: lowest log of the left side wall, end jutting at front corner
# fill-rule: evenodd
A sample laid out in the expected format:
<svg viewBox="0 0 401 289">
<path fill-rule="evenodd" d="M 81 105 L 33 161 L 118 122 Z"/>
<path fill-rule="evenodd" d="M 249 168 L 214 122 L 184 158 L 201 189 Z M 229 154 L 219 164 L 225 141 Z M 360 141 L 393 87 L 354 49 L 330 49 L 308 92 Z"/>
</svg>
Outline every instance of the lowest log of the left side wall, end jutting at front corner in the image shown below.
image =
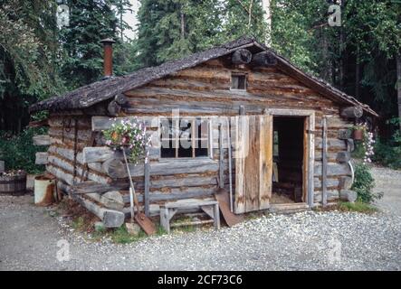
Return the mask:
<svg viewBox="0 0 401 289">
<path fill-rule="evenodd" d="M 72 199 L 101 219 L 106 228 L 119 228 L 124 224 L 125 214 L 121 211 L 101 208 L 95 202 L 78 195 L 72 195 Z"/>
</svg>

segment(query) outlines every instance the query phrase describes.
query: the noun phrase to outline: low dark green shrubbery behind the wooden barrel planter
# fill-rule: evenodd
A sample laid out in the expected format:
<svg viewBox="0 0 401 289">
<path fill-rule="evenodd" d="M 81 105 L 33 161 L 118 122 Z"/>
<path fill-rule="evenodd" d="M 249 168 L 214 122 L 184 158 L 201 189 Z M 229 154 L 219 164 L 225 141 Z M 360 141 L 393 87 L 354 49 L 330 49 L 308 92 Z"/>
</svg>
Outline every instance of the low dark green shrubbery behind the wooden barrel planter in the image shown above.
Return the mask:
<svg viewBox="0 0 401 289">
<path fill-rule="evenodd" d="M 42 135 L 45 128 L 26 128 L 19 135 L 0 131 L 0 160 L 5 161 L 7 170 L 24 170 L 28 173 L 41 173 L 43 165 L 34 164 L 35 154 L 46 150 L 33 145 L 33 135 Z"/>
</svg>

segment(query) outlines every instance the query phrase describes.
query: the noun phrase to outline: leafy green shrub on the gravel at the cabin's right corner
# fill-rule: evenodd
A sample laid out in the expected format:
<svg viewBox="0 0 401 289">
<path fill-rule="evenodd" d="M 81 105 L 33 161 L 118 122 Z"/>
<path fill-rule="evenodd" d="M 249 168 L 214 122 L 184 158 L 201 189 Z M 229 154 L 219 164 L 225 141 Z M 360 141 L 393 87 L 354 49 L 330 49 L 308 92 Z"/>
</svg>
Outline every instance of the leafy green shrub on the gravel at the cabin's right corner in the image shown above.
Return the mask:
<svg viewBox="0 0 401 289">
<path fill-rule="evenodd" d="M 371 203 L 380 199 L 382 194 L 373 192 L 375 188 L 375 179 L 373 178 L 370 168 L 367 164 L 358 163 L 355 167 L 355 180 L 352 190 L 358 193 L 358 201 Z"/>
</svg>

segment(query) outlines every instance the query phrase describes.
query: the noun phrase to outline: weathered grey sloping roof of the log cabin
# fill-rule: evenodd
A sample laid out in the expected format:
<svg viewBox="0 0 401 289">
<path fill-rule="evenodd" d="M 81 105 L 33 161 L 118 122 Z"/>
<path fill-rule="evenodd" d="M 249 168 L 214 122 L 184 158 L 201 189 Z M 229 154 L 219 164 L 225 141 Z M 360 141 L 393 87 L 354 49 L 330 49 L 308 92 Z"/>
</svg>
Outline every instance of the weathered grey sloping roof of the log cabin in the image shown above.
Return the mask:
<svg viewBox="0 0 401 289">
<path fill-rule="evenodd" d="M 258 51 L 270 51 L 277 59 L 279 69 L 295 79 L 300 80 L 306 86 L 310 87 L 310 89 L 315 89 L 320 92 L 321 95 L 344 105 L 362 107 L 368 114 L 378 117 L 374 110 L 368 107 L 368 105 L 360 103 L 357 98 L 348 96 L 323 79 L 318 79 L 298 69 L 291 64 L 290 61 L 286 60 L 272 49 L 267 48 L 262 43 L 257 42 L 252 37 L 242 37 L 234 42 L 227 42 L 206 51 L 193 53 L 184 59 L 167 61 L 159 66 L 144 68 L 129 75 L 96 81 L 79 89 L 72 90 L 63 96 L 56 96 L 33 104 L 33 106 L 30 107 L 30 112 L 41 110 L 62 111 L 91 107 L 102 101 L 114 98 L 120 93 L 137 89 L 153 80 L 164 78 L 179 70 L 186 70 L 205 61 L 230 54 L 238 49 L 250 47 L 255 47 Z"/>
</svg>

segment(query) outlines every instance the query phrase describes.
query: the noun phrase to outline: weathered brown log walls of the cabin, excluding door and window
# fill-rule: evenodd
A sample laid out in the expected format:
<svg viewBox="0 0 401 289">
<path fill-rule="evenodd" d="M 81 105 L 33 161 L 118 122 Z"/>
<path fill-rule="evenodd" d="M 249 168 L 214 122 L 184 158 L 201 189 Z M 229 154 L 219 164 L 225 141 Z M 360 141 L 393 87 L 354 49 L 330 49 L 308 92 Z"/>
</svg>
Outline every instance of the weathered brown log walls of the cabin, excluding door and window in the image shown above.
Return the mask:
<svg viewBox="0 0 401 289">
<path fill-rule="evenodd" d="M 242 72 L 247 75 L 247 91 L 230 90 L 231 73 Z M 338 163 L 337 154 L 347 150 L 346 141 L 339 139 L 339 130 L 352 126 L 346 118 L 340 117 L 338 104 L 302 85 L 296 79 L 276 68 L 250 69 L 247 66 L 231 66 L 224 60 L 207 61 L 195 68 L 182 70 L 164 79 L 155 80 L 147 86 L 126 93 L 128 104 L 119 117 L 138 116 L 148 124 L 153 134 L 150 163 L 149 196 L 152 206 L 166 200 L 208 197 L 217 189 L 219 176 L 219 137 L 218 126 L 222 124 L 224 142 L 226 138 L 226 117 L 237 116 L 240 107 L 248 115 L 263 114 L 266 108 L 308 109 L 315 112 L 315 167 L 314 201 L 321 201 L 321 151 L 322 118 L 327 118 L 328 126 L 328 199 L 339 198 L 341 177 L 350 178 L 347 163 Z M 152 117 L 171 116 L 172 109 L 179 108 L 180 116 L 208 116 L 212 121 L 212 151 L 209 157 L 196 160 L 160 159 L 158 148 L 158 121 Z M 218 117 L 216 117 L 218 116 Z M 50 148 L 47 171 L 56 175 L 65 185 L 71 187 L 81 182 L 81 172 L 85 167 L 82 150 L 91 139 L 93 131 L 96 145 L 104 145 L 101 129 L 109 126 L 109 118 L 91 116 L 50 117 Z M 96 123 L 93 119 L 97 118 Z M 64 122 L 64 125 L 63 125 Z M 65 124 L 71 127 L 65 129 Z M 77 122 L 77 126 L 75 126 Z M 75 134 L 74 128 L 78 128 Z M 75 140 L 77 141 L 75 143 Z M 228 189 L 227 145 L 224 144 L 224 186 Z M 76 152 L 76 154 L 75 154 Z M 74 167 L 75 165 L 75 167 Z M 89 163 L 88 180 L 103 184 L 124 183 L 127 179 L 110 178 L 102 163 Z M 234 163 L 233 163 L 234 168 Z M 132 168 L 137 191 L 143 199 L 143 166 Z M 74 178 L 75 174 L 75 178 Z M 233 170 L 233 180 L 234 170 Z M 234 183 L 235 181 L 233 181 Z M 122 185 L 123 187 L 124 185 Z M 347 189 L 347 188 L 346 188 Z M 124 195 L 125 193 L 125 195 Z M 128 200 L 127 192 L 122 192 Z M 152 207 L 153 208 L 153 207 Z"/>
</svg>

